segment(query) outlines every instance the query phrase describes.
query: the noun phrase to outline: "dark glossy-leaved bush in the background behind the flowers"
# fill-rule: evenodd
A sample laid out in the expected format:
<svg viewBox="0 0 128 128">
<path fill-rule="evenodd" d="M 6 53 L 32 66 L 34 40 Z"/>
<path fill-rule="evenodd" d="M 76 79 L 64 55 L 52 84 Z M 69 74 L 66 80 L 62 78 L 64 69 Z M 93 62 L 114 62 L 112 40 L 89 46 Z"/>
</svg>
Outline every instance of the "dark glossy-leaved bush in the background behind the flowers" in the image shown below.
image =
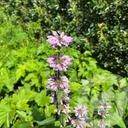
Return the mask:
<svg viewBox="0 0 128 128">
<path fill-rule="evenodd" d="M 90 50 L 99 66 L 128 75 L 127 0 L 2 0 L 0 5 L 38 43 L 51 30 L 65 31 L 74 38 L 72 47 Z"/>
</svg>

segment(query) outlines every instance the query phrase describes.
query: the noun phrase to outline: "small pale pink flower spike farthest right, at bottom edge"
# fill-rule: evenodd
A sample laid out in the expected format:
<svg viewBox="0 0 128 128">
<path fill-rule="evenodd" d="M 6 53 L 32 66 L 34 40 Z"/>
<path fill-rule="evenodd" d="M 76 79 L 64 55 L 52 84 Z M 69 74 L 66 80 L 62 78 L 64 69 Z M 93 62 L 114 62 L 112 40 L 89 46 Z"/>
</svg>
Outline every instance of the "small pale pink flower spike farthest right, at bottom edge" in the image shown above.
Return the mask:
<svg viewBox="0 0 128 128">
<path fill-rule="evenodd" d="M 101 116 L 101 119 L 98 121 L 98 126 L 100 128 L 105 128 L 107 124 L 104 122 L 104 118 L 108 117 L 108 110 L 111 108 L 111 106 L 108 106 L 108 103 L 101 102 L 100 109 L 98 110 L 98 115 Z"/>
</svg>

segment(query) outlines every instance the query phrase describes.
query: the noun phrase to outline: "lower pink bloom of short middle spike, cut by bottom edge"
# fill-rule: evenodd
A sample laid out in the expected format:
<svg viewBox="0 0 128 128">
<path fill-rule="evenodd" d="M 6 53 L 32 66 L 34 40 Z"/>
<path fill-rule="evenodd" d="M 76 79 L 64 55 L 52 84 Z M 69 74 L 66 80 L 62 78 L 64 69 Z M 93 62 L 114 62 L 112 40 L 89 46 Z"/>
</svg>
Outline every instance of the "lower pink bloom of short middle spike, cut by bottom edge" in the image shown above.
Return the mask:
<svg viewBox="0 0 128 128">
<path fill-rule="evenodd" d="M 84 118 L 71 119 L 71 124 L 73 128 L 85 128 L 86 127 L 86 122 L 84 121 Z"/>
</svg>

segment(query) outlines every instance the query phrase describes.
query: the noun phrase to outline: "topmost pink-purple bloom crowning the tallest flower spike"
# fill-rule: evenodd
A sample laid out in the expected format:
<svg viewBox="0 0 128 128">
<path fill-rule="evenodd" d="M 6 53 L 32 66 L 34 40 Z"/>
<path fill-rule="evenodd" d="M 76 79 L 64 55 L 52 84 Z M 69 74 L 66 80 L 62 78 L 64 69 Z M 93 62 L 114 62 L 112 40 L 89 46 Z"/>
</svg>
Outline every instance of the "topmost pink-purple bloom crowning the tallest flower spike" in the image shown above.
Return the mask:
<svg viewBox="0 0 128 128">
<path fill-rule="evenodd" d="M 72 41 L 72 38 L 64 35 L 64 32 L 58 33 L 56 31 L 52 31 L 52 35 L 48 36 L 47 42 L 50 43 L 51 47 L 55 48 L 57 46 L 61 47 L 62 45 L 68 47 L 69 43 Z"/>
</svg>

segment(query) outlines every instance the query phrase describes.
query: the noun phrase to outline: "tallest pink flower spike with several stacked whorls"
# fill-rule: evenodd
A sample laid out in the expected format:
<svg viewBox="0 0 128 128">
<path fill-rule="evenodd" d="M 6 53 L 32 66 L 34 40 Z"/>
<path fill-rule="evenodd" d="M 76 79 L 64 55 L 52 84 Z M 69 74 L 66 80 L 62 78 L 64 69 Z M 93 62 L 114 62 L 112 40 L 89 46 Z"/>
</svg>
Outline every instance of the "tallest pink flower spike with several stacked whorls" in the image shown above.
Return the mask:
<svg viewBox="0 0 128 128">
<path fill-rule="evenodd" d="M 52 48 L 57 47 L 58 50 L 56 55 L 47 59 L 47 62 L 50 64 L 50 67 L 56 71 L 56 74 L 50 75 L 48 78 L 47 88 L 51 90 L 51 103 L 56 105 L 55 112 L 57 115 L 61 115 L 62 113 L 65 114 L 65 122 L 67 122 L 70 118 L 68 104 L 68 94 L 70 93 L 70 90 L 68 89 L 69 80 L 66 76 L 62 76 L 60 71 L 67 70 L 68 66 L 71 64 L 71 58 L 66 55 L 61 55 L 59 53 L 59 47 L 68 47 L 72 38 L 64 35 L 64 32 L 58 35 L 57 32 L 53 31 L 52 34 L 53 36 L 48 36 L 47 41 L 50 43 Z"/>
</svg>

